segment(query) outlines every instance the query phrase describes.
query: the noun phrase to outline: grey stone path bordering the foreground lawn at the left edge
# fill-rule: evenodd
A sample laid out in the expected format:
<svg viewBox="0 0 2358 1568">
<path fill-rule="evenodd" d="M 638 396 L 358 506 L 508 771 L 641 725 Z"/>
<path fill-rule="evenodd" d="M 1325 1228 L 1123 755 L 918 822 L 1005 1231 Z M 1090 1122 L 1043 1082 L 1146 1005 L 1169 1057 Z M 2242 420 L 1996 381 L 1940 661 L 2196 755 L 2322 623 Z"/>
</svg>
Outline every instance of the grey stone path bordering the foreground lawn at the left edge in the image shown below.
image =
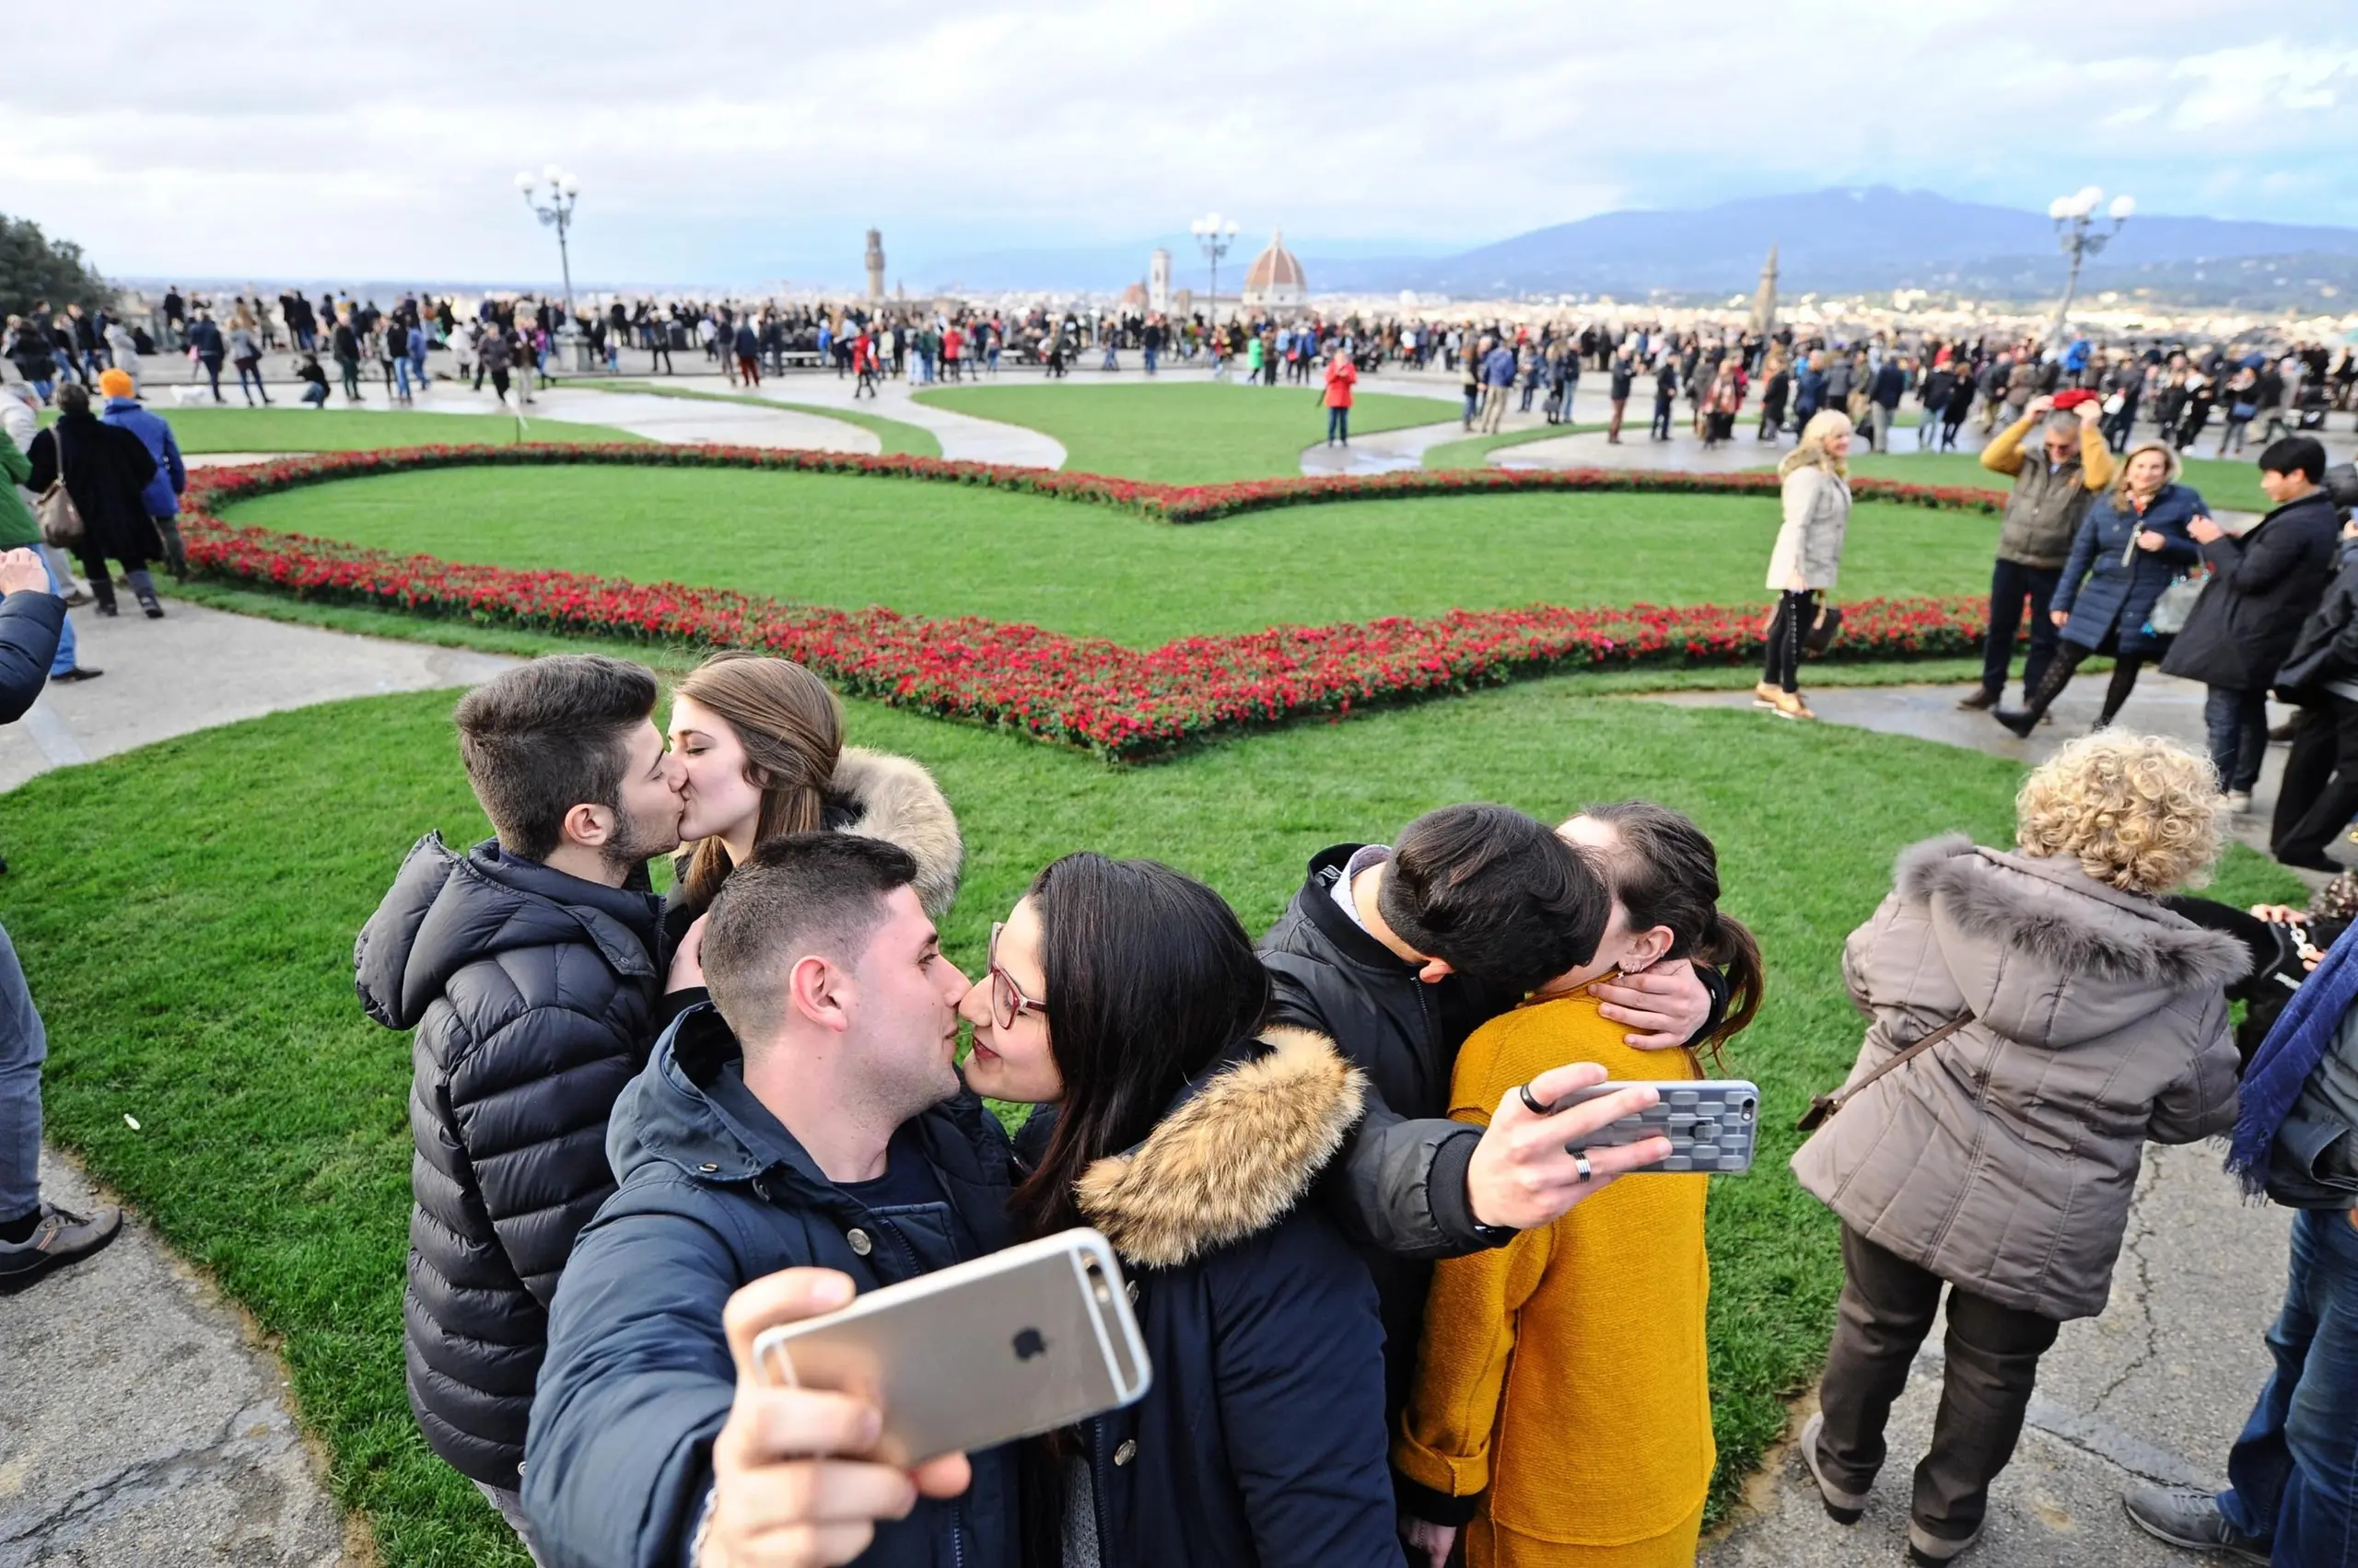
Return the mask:
<svg viewBox="0 0 2358 1568">
<path fill-rule="evenodd" d="M 186 601 L 163 620 L 137 608 L 73 620 L 83 663 L 106 677 L 50 686 L 0 729 L 0 788 L 281 707 L 460 686 L 512 663 Z M 94 1198 L 47 1148 L 42 1191 L 66 1207 Z M 276 1358 L 137 1214 L 99 1257 L 0 1297 L 0 1568 L 373 1561 L 365 1533 L 347 1540 Z"/>
</svg>

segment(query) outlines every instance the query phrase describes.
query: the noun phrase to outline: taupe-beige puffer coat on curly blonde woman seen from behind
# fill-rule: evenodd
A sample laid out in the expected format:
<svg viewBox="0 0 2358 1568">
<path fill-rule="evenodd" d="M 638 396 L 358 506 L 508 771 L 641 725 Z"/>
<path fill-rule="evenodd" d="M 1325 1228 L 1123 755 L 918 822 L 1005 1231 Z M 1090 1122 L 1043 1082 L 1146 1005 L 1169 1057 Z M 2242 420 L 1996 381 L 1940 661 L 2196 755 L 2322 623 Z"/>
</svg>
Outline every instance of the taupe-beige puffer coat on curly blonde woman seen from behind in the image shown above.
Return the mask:
<svg viewBox="0 0 2358 1568">
<path fill-rule="evenodd" d="M 2070 858 L 1901 854 L 1842 974 L 1875 1023 L 1851 1068 L 1974 1021 L 1851 1099 L 1792 1172 L 1846 1226 L 1941 1278 L 2044 1318 L 2113 1290 L 2146 1141 L 2235 1122 L 2231 936 L 2110 889 Z"/>
</svg>

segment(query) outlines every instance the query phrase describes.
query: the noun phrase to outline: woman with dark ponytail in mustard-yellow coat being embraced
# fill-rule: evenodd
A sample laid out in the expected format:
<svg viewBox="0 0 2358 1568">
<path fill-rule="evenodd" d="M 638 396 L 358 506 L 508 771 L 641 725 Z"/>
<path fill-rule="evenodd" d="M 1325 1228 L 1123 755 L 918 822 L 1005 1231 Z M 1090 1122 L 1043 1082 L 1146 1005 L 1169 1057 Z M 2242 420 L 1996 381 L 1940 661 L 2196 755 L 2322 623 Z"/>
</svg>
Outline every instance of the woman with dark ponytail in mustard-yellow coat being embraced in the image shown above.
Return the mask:
<svg viewBox="0 0 2358 1568">
<path fill-rule="evenodd" d="M 1639 1052 L 1589 988 L 1674 957 L 1728 976 L 1705 1049 L 1752 1023 L 1761 955 L 1719 913 L 1719 858 L 1662 806 L 1592 806 L 1559 830 L 1613 887 L 1592 960 L 1457 1052 L 1450 1115 L 1486 1122 L 1516 1085 L 1568 1061 L 1613 1078 L 1705 1078 L 1693 1049 Z M 1563 1219 L 1434 1271 L 1417 1386 L 1391 1462 L 1410 1561 L 1688 1568 L 1712 1483 L 1702 1339 L 1710 1177 L 1618 1181 Z M 1603 1441 L 1615 1434 L 1613 1441 Z"/>
</svg>

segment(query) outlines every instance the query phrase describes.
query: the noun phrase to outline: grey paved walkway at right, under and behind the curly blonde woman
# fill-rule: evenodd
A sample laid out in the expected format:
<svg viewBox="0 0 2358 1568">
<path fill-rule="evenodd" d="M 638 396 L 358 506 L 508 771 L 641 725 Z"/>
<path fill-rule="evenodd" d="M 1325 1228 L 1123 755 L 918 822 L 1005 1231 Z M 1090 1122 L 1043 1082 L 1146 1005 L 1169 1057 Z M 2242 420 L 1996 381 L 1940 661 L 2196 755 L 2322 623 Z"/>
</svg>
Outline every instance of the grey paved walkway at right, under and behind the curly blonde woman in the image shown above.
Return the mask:
<svg viewBox="0 0 2358 1568">
<path fill-rule="evenodd" d="M 2016 740 L 1988 714 L 1957 712 L 1964 686 L 1823 686 L 1809 693 L 1827 724 L 1969 745 L 1995 757 L 2042 762 L 2087 733 L 2103 679 L 2080 679 L 2056 703 L 2056 724 Z M 1688 691 L 1681 707 L 1750 705 L 1745 691 Z M 1780 724 L 1771 714 L 1761 724 Z M 2146 674 L 2122 722 L 2202 743 L 2202 689 Z M 2266 846 L 2268 809 L 2285 747 L 2268 747 L 2254 811 L 2238 837 Z M 2205 1561 L 2162 1547 L 2120 1511 L 2141 1481 L 2224 1485 L 2226 1450 L 2268 1375 L 2261 1335 L 2285 1280 L 2290 1212 L 2245 1207 L 2219 1172 L 2209 1144 L 2148 1148 L 2129 1210 L 2127 1250 L 2101 1318 L 2070 1323 L 2040 1363 L 2014 1464 L 1990 1493 L 1990 1535 L 1969 1559 L 1978 1568 L 2141 1568 Z M 1891 1462 L 1856 1528 L 1832 1523 L 1787 1448 L 1754 1481 L 1750 1509 L 1702 1554 L 1710 1568 L 1884 1568 L 1903 1561 L 1908 1471 L 1931 1438 L 1941 1396 L 1941 1335 L 1934 1327 L 1908 1391 L 1891 1415 Z M 1813 1408 L 1794 1408 L 1792 1431 Z"/>
</svg>

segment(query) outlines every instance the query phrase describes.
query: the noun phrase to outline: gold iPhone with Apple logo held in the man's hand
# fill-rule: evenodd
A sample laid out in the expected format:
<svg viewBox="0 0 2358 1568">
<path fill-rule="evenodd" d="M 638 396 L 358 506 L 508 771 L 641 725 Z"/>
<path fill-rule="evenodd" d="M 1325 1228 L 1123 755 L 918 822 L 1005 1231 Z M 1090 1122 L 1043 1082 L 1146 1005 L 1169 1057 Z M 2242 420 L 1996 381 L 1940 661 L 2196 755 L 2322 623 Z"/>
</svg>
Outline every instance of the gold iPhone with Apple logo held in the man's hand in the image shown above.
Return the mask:
<svg viewBox="0 0 2358 1568">
<path fill-rule="evenodd" d="M 901 1467 L 1120 1410 L 1153 1382 L 1122 1269 L 1089 1228 L 783 1323 L 755 1339 L 752 1358 L 776 1386 L 877 1405 L 875 1457 Z"/>
</svg>

